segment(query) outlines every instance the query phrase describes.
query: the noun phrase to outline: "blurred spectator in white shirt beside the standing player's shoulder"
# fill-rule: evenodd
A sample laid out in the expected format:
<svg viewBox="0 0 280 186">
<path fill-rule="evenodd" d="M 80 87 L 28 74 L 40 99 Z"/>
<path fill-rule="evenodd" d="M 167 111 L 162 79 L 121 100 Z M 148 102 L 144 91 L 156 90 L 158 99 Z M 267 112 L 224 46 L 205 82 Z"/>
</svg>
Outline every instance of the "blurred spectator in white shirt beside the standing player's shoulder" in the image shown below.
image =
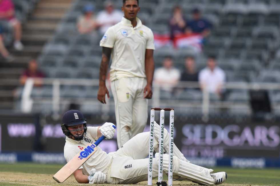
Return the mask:
<svg viewBox="0 0 280 186">
<path fill-rule="evenodd" d="M 110 26 L 117 24 L 123 18 L 123 13 L 119 10 L 115 10 L 112 1 L 105 1 L 104 6 L 105 10 L 99 12 L 97 15 L 97 22 L 100 26 L 101 34 L 105 34 Z"/>
</svg>

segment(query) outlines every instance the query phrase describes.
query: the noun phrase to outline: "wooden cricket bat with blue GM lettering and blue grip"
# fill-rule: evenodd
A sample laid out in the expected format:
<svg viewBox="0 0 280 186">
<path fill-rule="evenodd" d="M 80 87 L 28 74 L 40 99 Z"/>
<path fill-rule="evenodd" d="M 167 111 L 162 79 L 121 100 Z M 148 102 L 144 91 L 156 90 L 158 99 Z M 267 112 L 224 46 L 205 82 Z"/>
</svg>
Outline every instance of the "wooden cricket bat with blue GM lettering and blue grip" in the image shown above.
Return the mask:
<svg viewBox="0 0 280 186">
<path fill-rule="evenodd" d="M 113 127 L 115 128 L 115 126 Z M 88 143 L 81 152 L 74 156 L 65 166 L 63 166 L 63 168 L 53 175 L 53 179 L 58 183 L 63 183 L 97 151 L 96 146 L 105 138 L 105 136 L 101 136 L 95 143 Z"/>
</svg>

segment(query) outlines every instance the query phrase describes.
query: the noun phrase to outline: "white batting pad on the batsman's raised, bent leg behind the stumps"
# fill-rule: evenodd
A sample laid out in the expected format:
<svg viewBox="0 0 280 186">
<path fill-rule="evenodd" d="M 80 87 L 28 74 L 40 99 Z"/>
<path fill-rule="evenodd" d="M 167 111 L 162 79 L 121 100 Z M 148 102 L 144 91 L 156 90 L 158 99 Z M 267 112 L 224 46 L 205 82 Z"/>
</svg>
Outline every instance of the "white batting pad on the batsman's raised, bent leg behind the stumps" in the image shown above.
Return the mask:
<svg viewBox="0 0 280 186">
<path fill-rule="evenodd" d="M 155 142 L 154 142 L 154 147 L 155 147 L 155 151 L 158 151 L 158 146 L 159 146 L 159 133 L 160 133 L 160 129 L 159 129 L 159 125 L 155 122 L 154 125 L 154 137 L 155 137 Z M 163 148 L 165 152 L 169 152 L 169 132 L 164 128 L 164 137 L 163 137 Z M 180 160 L 183 160 L 185 162 L 187 162 L 187 159 L 184 157 L 184 155 L 181 153 L 181 151 L 178 149 L 178 147 L 175 145 L 175 143 L 173 143 L 173 146 L 171 147 L 173 149 L 173 156 L 176 156 L 177 158 L 179 158 Z M 171 149 L 171 150 L 172 150 Z"/>
</svg>

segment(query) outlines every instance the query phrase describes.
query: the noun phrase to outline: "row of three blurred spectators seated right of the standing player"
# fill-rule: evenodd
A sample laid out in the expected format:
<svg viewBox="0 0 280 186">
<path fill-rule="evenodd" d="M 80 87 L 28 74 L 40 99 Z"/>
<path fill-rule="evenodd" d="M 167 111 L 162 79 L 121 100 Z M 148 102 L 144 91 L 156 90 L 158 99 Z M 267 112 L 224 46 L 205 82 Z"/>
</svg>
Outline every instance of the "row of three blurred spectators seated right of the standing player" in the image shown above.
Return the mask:
<svg viewBox="0 0 280 186">
<path fill-rule="evenodd" d="M 188 56 L 185 59 L 185 69 L 181 72 L 173 66 L 173 59 L 166 57 L 163 60 L 163 66 L 157 68 L 154 74 L 154 81 L 160 85 L 161 90 L 175 94 L 175 88 L 179 81 L 198 82 L 201 90 L 206 90 L 210 94 L 223 98 L 223 85 L 226 75 L 223 69 L 217 66 L 215 56 L 208 56 L 205 68 L 200 71 L 195 65 L 195 58 Z M 198 88 L 193 88 L 198 89 Z"/>
</svg>

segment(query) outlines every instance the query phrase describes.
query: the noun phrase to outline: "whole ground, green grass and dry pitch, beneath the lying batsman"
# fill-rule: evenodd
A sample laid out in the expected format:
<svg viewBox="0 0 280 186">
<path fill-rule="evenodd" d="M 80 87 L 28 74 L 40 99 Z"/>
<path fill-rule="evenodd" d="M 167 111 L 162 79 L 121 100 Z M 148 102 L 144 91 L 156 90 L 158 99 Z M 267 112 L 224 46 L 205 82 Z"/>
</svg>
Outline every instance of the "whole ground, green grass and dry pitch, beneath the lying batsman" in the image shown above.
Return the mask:
<svg viewBox="0 0 280 186">
<path fill-rule="evenodd" d="M 84 185 L 76 182 L 71 176 L 64 183 L 57 183 L 52 179 L 53 174 L 59 170 L 62 165 L 50 164 L 0 164 L 0 185 L 2 186 L 24 186 L 24 185 Z M 228 180 L 224 186 L 253 186 L 269 185 L 280 186 L 280 169 L 233 169 L 216 168 L 215 171 L 225 170 L 228 173 Z M 165 177 L 165 180 L 167 177 Z M 154 180 L 154 185 L 156 180 Z M 111 186 L 112 184 L 99 184 L 100 186 Z M 143 181 L 136 185 L 147 185 Z M 173 185 L 197 185 L 189 181 L 173 181 Z M 114 185 L 117 186 L 117 185 Z"/>
</svg>

